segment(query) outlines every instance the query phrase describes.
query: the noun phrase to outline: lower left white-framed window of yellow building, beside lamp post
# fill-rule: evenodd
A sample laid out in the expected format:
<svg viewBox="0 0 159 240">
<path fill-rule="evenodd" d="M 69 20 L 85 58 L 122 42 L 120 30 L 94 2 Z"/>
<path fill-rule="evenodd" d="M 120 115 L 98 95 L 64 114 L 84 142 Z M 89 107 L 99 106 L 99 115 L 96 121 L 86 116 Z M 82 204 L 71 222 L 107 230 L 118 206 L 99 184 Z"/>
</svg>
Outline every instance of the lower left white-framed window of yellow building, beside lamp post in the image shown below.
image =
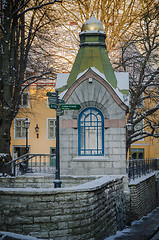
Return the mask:
<svg viewBox="0 0 159 240">
<path fill-rule="evenodd" d="M 25 119 L 16 118 L 14 121 L 14 136 L 15 138 L 25 138 L 26 130 L 24 126 Z"/>
</svg>

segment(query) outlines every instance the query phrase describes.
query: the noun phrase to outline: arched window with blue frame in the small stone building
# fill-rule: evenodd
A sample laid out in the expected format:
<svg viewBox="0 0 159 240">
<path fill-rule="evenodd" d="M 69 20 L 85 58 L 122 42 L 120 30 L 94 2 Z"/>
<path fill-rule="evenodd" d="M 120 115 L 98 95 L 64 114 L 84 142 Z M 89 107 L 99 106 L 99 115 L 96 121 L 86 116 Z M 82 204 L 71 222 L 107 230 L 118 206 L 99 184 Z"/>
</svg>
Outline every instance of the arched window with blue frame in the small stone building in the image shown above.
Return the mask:
<svg viewBox="0 0 159 240">
<path fill-rule="evenodd" d="M 97 108 L 86 108 L 79 115 L 78 154 L 104 155 L 104 117 Z"/>
</svg>

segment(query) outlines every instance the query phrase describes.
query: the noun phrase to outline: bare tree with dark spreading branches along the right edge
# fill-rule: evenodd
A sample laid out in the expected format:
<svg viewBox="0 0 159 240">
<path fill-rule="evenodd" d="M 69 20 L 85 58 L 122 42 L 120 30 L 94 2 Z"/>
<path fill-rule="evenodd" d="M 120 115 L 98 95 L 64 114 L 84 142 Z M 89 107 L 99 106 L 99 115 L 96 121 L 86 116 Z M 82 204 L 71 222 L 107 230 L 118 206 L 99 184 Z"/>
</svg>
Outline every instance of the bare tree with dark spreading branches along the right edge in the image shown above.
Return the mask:
<svg viewBox="0 0 159 240">
<path fill-rule="evenodd" d="M 159 137 L 159 5 L 144 5 L 139 24 L 123 41 L 116 69 L 130 73 L 128 121 L 133 130 L 131 143 L 147 137 Z"/>
</svg>

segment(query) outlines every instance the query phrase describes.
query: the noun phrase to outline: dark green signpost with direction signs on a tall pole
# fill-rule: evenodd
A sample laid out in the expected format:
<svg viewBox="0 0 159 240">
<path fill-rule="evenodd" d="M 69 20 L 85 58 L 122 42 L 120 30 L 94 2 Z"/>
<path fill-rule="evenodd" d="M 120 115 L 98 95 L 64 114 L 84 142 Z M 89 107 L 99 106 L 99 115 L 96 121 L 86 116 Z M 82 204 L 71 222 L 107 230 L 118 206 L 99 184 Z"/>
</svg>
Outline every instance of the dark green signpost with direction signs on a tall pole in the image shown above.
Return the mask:
<svg viewBox="0 0 159 240">
<path fill-rule="evenodd" d="M 60 180 L 60 137 L 59 137 L 59 116 L 64 114 L 64 110 L 79 110 L 79 104 L 65 104 L 63 99 L 59 99 L 58 90 L 55 92 L 47 92 L 49 97 L 50 109 L 56 110 L 56 173 L 54 187 L 61 188 L 62 181 Z"/>
</svg>

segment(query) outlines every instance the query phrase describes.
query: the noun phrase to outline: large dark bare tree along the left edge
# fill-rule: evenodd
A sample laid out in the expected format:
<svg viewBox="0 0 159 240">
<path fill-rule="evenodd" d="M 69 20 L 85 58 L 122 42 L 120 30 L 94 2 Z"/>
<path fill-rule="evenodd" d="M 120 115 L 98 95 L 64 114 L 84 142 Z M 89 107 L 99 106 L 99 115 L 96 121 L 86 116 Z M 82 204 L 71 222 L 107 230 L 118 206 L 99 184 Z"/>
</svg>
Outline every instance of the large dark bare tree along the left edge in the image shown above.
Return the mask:
<svg viewBox="0 0 159 240">
<path fill-rule="evenodd" d="M 55 3 L 61 2 L 60 0 L 3 0 L 1 2 L 0 153 L 10 154 L 10 127 L 18 113 L 21 94 L 32 82 L 50 74 L 50 70 L 43 68 L 45 71 L 41 71 L 37 74 L 38 76 L 25 79 L 31 46 L 35 40 L 37 41 L 37 35 L 41 29 L 52 22 L 48 12 L 54 13 Z M 53 5 L 54 9 L 51 9 Z"/>
</svg>

